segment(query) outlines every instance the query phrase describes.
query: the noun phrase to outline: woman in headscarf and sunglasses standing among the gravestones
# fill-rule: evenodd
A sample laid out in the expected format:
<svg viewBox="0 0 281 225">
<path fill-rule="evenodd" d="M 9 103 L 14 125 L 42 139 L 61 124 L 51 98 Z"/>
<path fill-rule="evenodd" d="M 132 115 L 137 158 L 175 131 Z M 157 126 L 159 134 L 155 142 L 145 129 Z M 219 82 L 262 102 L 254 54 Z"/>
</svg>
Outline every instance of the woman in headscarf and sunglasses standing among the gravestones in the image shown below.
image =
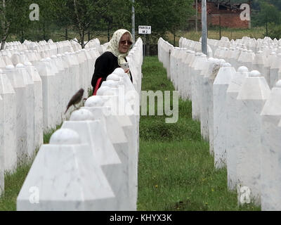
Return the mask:
<svg viewBox="0 0 281 225">
<path fill-rule="evenodd" d="M 128 56 L 133 44 L 132 39 L 132 35 L 128 30 L 120 29 L 113 34 L 110 44 L 107 46 L 107 51 L 96 60 L 95 71 L 91 81 L 93 95 L 96 95 L 100 85 L 106 80 L 108 75 L 127 62 L 126 56 Z M 131 82 L 133 82 L 130 70 L 125 68 L 124 70 L 128 73 Z"/>
</svg>

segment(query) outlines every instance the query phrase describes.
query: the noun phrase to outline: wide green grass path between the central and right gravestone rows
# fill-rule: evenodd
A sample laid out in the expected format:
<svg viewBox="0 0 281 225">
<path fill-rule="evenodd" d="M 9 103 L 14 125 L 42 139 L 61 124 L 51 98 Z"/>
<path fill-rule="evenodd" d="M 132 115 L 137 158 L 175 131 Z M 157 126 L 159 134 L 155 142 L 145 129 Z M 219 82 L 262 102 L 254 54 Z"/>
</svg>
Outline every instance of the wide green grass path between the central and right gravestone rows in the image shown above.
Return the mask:
<svg viewBox="0 0 281 225">
<path fill-rule="evenodd" d="M 157 56 L 144 59 L 142 90 L 174 90 Z M 228 191 L 226 169 L 214 168 L 200 122 L 192 120 L 191 102 L 180 99 L 178 111 L 175 124 L 166 124 L 166 116 L 141 116 L 138 210 L 261 210 L 237 205 L 236 191 Z"/>
</svg>

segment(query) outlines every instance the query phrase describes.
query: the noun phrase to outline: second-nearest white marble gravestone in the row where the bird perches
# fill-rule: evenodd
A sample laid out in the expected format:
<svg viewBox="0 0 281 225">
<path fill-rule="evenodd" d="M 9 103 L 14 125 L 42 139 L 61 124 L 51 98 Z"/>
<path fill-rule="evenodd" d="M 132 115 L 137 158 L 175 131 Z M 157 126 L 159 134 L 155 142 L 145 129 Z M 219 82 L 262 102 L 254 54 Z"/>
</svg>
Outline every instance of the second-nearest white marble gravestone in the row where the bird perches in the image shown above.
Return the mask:
<svg viewBox="0 0 281 225">
<path fill-rule="evenodd" d="M 62 128 L 77 131 L 83 143 L 88 143 L 93 150 L 105 177 L 117 198 L 117 210 L 131 210 L 129 205 L 126 183 L 126 172 L 122 169 L 121 161 L 105 131 L 106 127 L 100 120 L 93 120 L 93 114 L 86 109 L 74 111 L 70 121 L 64 122 Z"/>
</svg>

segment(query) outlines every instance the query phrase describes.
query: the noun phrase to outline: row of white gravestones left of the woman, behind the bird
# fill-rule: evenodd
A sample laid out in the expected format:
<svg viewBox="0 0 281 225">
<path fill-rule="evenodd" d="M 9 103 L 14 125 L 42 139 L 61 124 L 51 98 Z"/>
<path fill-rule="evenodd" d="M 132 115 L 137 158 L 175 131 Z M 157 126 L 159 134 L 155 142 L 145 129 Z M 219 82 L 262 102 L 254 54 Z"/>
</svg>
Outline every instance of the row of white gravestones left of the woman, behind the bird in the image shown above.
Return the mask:
<svg viewBox="0 0 281 225">
<path fill-rule="evenodd" d="M 14 172 L 19 164 L 32 158 L 43 143 L 43 132 L 70 115 L 64 112 L 78 89 L 84 88 L 87 97 L 98 56 L 96 49 L 85 49 L 37 58 L 34 65 L 22 61 L 24 65 L 6 65 L 0 70 L 0 96 L 4 104 L 0 155 L 4 171 Z M 1 179 L 3 176 L 1 173 Z"/>
</svg>

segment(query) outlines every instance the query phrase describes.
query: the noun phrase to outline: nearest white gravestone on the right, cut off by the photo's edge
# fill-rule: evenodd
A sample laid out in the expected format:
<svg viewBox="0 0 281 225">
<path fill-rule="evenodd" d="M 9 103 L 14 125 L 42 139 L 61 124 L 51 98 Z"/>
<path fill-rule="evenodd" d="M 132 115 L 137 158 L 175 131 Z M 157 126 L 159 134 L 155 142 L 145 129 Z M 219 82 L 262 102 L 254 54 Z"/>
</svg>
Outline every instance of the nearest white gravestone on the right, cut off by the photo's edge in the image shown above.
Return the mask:
<svg viewBox="0 0 281 225">
<path fill-rule="evenodd" d="M 281 80 L 271 89 L 261 120 L 261 209 L 280 211 Z"/>
</svg>

